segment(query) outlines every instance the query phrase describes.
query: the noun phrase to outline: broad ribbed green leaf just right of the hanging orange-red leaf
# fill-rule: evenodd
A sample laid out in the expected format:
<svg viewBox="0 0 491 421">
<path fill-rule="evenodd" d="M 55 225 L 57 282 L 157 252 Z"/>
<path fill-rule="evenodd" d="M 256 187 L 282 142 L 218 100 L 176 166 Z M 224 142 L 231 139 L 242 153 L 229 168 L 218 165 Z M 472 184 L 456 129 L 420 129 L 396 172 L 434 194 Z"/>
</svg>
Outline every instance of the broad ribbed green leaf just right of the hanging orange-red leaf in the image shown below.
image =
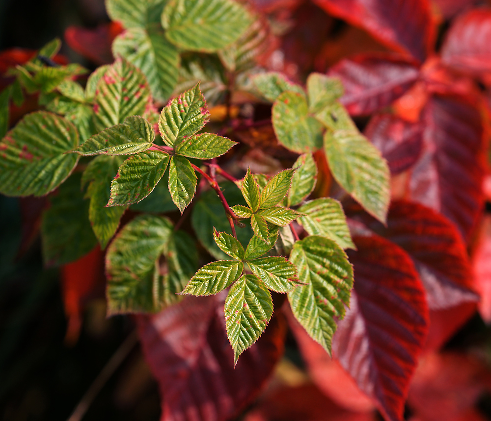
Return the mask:
<svg viewBox="0 0 491 421">
<path fill-rule="evenodd" d="M 125 225 L 106 255 L 108 315 L 157 312 L 164 308 L 160 257 L 172 236 L 172 223 L 140 215 Z"/>
</svg>

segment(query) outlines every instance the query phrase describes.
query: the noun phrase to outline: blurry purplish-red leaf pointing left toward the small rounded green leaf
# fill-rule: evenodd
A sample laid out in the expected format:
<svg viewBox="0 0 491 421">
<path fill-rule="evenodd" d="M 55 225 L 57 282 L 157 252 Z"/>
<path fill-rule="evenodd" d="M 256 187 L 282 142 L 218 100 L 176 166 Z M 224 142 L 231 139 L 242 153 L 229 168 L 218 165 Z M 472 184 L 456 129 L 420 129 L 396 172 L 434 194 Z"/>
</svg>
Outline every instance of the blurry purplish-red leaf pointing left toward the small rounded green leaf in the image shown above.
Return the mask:
<svg viewBox="0 0 491 421">
<path fill-rule="evenodd" d="M 341 60 L 329 76 L 339 77 L 345 94 L 341 102 L 352 115 L 371 114 L 401 97 L 416 82 L 419 70 L 397 54 L 361 54 Z"/>
</svg>

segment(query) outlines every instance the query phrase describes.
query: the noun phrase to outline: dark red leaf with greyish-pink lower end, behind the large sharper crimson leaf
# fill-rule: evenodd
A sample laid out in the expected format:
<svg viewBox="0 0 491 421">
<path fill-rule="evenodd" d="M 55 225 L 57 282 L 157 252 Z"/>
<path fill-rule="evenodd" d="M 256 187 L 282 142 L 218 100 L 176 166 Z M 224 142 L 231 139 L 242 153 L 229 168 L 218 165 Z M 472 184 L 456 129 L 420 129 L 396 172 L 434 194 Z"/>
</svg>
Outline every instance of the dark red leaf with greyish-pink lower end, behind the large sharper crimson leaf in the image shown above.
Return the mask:
<svg viewBox="0 0 491 421">
<path fill-rule="evenodd" d="M 444 216 L 419 203 L 394 201 L 386 227 L 371 217 L 363 219 L 369 228 L 406 250 L 412 258 L 430 309 L 477 301 L 465 244 Z"/>
</svg>

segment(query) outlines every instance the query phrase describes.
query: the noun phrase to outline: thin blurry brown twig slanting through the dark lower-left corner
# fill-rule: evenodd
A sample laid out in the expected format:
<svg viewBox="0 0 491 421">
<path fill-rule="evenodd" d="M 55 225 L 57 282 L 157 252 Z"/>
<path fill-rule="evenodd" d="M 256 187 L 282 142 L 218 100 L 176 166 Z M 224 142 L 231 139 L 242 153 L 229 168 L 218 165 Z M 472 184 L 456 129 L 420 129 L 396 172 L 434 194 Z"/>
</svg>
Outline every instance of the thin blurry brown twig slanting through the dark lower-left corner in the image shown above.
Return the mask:
<svg viewBox="0 0 491 421">
<path fill-rule="evenodd" d="M 130 351 L 135 347 L 138 342 L 138 336 L 136 335 L 136 330 L 128 335 L 124 342 L 116 349 L 116 352 L 109 359 L 107 364 L 104 366 L 102 371 L 96 377 L 94 382 L 90 385 L 82 396 L 79 404 L 76 406 L 70 418 L 67 421 L 80 421 L 89 409 L 90 405 L 94 401 L 95 397 L 99 394 L 103 386 L 109 380 L 109 378 L 114 374 L 114 371 L 121 365 L 121 363 L 126 359 Z"/>
</svg>

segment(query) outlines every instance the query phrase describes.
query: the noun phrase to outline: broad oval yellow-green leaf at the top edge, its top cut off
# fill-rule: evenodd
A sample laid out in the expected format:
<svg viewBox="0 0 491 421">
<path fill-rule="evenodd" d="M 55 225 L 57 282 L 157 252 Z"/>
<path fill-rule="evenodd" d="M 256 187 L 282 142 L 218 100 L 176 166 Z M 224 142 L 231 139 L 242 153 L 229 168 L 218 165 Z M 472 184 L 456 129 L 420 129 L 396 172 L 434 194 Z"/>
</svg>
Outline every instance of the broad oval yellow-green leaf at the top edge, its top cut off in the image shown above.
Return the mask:
<svg viewBox="0 0 491 421">
<path fill-rule="evenodd" d="M 251 23 L 246 8 L 232 0 L 170 0 L 162 14 L 165 35 L 184 50 L 220 50 Z"/>
</svg>

